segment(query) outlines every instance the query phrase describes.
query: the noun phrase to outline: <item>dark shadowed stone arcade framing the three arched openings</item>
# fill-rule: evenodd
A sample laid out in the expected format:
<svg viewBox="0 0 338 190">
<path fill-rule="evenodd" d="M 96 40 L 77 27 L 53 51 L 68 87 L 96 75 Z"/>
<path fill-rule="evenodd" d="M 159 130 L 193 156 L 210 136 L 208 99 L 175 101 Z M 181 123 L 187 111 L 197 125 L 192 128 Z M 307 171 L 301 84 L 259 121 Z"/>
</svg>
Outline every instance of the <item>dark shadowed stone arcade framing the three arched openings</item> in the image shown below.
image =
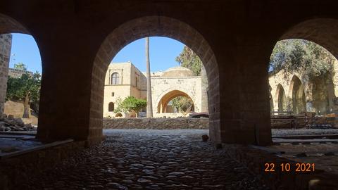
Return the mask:
<svg viewBox="0 0 338 190">
<path fill-rule="evenodd" d="M 211 139 L 264 145 L 271 143 L 266 84 L 273 46 L 280 39 L 311 37 L 337 57 L 336 4 L 12 0 L 2 2 L 0 13 L 22 23 L 39 44 L 39 138 L 100 141 L 110 59 L 135 39 L 161 35 L 187 44 L 206 65 Z"/>
</svg>

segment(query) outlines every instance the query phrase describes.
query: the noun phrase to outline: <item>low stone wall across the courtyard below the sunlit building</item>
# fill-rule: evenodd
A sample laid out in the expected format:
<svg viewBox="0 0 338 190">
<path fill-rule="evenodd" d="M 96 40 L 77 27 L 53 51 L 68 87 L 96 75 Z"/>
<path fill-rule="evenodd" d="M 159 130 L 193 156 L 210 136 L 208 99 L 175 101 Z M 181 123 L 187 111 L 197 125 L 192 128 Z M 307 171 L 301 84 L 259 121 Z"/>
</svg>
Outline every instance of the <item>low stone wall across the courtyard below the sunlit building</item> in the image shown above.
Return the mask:
<svg viewBox="0 0 338 190">
<path fill-rule="evenodd" d="M 104 118 L 104 129 L 208 129 L 208 118 Z"/>
</svg>

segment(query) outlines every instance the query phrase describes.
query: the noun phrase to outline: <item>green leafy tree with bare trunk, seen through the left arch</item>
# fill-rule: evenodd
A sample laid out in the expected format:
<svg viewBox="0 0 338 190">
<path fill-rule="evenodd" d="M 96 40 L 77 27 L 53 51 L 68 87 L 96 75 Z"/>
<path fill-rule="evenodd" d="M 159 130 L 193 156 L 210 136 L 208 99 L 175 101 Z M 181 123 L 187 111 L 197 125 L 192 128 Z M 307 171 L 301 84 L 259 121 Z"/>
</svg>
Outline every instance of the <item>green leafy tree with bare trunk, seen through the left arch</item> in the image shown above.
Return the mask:
<svg viewBox="0 0 338 190">
<path fill-rule="evenodd" d="M 30 103 L 39 101 L 41 75 L 23 74 L 20 78 L 8 77 L 6 99 L 23 101 L 23 118 L 30 117 Z"/>
</svg>

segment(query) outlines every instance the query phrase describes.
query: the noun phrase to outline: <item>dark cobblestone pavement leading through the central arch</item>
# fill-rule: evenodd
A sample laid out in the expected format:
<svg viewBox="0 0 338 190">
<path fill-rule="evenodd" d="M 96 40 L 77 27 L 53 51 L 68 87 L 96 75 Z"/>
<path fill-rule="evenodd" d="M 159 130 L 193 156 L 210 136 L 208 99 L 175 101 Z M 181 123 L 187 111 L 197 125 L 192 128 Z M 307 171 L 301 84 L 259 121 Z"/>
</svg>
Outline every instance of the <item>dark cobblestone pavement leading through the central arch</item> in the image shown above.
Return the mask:
<svg viewBox="0 0 338 190">
<path fill-rule="evenodd" d="M 208 130 L 105 130 L 86 149 L 18 189 L 268 189 L 201 141 Z"/>
</svg>

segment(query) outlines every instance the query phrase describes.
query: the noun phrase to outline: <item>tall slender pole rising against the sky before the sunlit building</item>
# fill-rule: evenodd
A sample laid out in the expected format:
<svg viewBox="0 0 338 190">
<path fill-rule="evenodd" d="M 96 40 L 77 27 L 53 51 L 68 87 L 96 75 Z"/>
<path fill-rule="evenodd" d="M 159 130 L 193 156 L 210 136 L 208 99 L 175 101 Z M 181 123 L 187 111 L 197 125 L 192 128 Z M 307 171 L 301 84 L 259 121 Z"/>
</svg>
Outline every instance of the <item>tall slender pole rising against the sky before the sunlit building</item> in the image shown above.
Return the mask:
<svg viewBox="0 0 338 190">
<path fill-rule="evenodd" d="M 153 101 L 151 99 L 149 37 L 146 37 L 146 118 L 153 118 Z"/>
</svg>

